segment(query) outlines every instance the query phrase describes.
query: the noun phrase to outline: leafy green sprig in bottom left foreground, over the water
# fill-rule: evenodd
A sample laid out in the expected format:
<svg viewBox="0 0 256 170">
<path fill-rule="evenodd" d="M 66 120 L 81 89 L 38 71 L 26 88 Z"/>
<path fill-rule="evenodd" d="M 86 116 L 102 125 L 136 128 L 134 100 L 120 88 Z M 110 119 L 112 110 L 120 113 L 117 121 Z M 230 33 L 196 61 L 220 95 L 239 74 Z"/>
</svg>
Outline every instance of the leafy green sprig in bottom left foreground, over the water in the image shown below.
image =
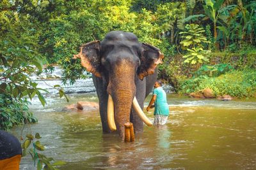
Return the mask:
<svg viewBox="0 0 256 170">
<path fill-rule="evenodd" d="M 22 157 L 26 156 L 27 150 L 36 164 L 36 169 L 57 169 L 56 167 L 66 164 L 63 161 L 54 161 L 51 157 L 46 157 L 40 151 L 45 150 L 45 146 L 40 143 L 38 139 L 42 138 L 40 134 L 36 133 L 35 136 L 27 134 L 25 141 L 22 143 Z M 32 143 L 32 146 L 31 146 Z"/>
</svg>

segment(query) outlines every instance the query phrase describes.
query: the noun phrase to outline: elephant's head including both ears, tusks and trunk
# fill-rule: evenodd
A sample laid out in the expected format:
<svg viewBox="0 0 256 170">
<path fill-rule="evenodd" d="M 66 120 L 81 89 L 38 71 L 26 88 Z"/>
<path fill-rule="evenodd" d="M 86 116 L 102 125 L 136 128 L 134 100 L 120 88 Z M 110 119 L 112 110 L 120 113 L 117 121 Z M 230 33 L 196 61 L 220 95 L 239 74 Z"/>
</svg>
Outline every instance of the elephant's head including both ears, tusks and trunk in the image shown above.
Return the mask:
<svg viewBox="0 0 256 170">
<path fill-rule="evenodd" d="M 147 125 L 150 120 L 136 100 L 136 78 L 154 74 L 163 54 L 154 46 L 140 43 L 131 32 L 111 31 L 103 41 L 92 41 L 81 46 L 74 58 L 81 58 L 86 70 L 106 82 L 108 100 L 108 124 L 112 131 L 124 139 L 124 124 L 130 122 L 131 106 Z"/>
</svg>

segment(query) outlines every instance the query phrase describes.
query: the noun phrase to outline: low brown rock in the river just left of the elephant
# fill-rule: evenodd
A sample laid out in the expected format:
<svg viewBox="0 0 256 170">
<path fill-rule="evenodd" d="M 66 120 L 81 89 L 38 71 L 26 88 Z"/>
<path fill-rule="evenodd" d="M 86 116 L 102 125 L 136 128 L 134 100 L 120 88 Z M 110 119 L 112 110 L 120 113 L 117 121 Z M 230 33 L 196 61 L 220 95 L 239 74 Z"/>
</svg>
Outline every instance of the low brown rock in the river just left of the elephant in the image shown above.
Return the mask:
<svg viewBox="0 0 256 170">
<path fill-rule="evenodd" d="M 96 102 L 89 102 L 89 101 L 79 101 L 76 104 L 70 104 L 65 106 L 62 111 L 92 111 L 92 110 L 99 110 L 99 104 Z"/>
</svg>

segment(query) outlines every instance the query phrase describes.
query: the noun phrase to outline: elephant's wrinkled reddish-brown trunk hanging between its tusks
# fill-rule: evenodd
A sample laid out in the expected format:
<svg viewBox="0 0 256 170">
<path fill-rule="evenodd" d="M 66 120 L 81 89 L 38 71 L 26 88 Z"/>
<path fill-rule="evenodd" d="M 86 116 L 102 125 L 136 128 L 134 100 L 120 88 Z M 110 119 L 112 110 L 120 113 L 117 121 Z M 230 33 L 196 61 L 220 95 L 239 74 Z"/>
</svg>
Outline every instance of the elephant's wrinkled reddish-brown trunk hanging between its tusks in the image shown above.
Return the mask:
<svg viewBox="0 0 256 170">
<path fill-rule="evenodd" d="M 134 82 L 136 71 L 129 59 L 118 61 L 118 65 L 113 66 L 112 69 L 113 72 L 109 74 L 108 94 L 114 104 L 108 106 L 108 111 L 111 113 L 111 108 L 114 108 L 114 124 L 120 137 L 124 139 L 124 124 L 130 122 L 132 101 L 136 94 Z M 108 118 L 108 122 L 113 123 L 113 116 Z M 115 125 L 109 125 L 109 128 L 115 130 Z"/>
</svg>

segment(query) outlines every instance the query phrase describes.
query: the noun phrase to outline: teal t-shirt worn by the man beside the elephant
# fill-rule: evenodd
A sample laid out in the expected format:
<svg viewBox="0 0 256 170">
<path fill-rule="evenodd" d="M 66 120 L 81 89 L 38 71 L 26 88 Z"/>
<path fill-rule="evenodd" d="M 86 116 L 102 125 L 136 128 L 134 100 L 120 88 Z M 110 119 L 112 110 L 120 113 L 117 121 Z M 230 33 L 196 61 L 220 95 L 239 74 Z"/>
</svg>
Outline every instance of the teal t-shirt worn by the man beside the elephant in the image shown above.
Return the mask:
<svg viewBox="0 0 256 170">
<path fill-rule="evenodd" d="M 153 95 L 156 95 L 155 111 L 154 115 L 169 115 L 169 107 L 166 101 L 166 93 L 162 87 L 157 87 L 153 91 Z"/>
</svg>

